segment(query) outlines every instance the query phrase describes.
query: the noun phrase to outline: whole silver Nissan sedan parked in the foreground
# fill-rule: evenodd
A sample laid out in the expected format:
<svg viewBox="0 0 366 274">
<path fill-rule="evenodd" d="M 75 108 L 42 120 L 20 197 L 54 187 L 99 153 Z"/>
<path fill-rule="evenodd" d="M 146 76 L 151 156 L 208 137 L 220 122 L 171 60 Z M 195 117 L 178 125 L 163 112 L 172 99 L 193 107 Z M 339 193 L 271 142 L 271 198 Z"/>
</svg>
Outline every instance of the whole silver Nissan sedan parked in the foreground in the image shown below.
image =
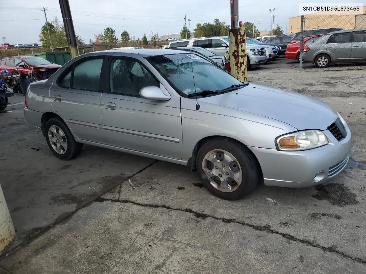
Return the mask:
<svg viewBox="0 0 366 274">
<path fill-rule="evenodd" d="M 229 200 L 263 181 L 323 183 L 343 170 L 351 150 L 346 122 L 321 100 L 243 83 L 171 49 L 78 56 L 30 84 L 24 114 L 62 160 L 89 144 L 188 165 Z"/>
</svg>

